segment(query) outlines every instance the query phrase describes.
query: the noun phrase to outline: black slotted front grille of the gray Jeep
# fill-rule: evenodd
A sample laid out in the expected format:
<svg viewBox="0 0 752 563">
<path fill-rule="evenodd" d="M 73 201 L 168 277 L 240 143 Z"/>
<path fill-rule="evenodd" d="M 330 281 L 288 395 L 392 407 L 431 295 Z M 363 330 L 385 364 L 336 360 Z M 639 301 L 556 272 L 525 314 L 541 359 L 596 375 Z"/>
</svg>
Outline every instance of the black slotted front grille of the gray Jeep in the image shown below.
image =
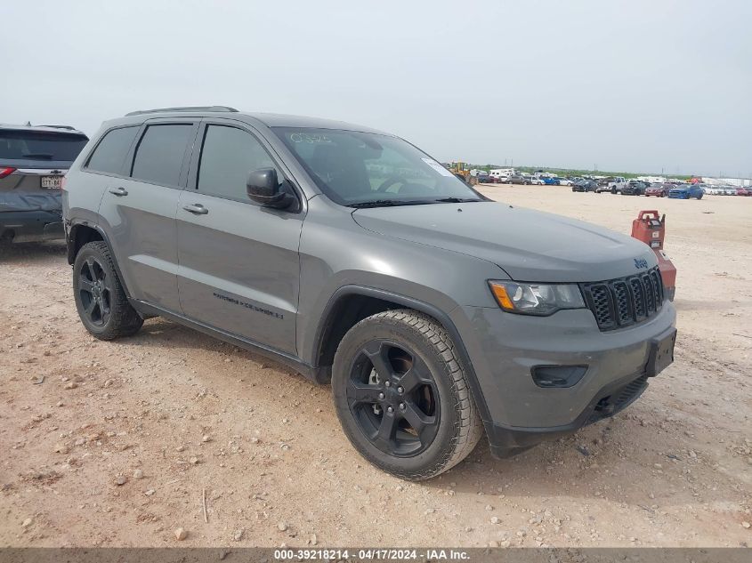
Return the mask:
<svg viewBox="0 0 752 563">
<path fill-rule="evenodd" d="M 640 323 L 663 305 L 663 280 L 658 268 L 580 287 L 601 330 Z"/>
</svg>

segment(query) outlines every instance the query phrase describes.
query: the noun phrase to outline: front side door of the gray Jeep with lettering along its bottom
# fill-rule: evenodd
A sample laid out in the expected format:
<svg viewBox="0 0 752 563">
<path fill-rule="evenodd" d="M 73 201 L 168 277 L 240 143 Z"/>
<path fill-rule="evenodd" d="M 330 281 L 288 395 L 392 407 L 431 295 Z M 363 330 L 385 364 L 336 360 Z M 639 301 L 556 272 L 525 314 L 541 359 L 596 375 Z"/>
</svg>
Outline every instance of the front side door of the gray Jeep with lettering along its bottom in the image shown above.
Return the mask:
<svg viewBox="0 0 752 563">
<path fill-rule="evenodd" d="M 247 197 L 259 168 L 291 177 L 250 126 L 201 126 L 177 213 L 180 302 L 188 318 L 295 354 L 303 213 Z"/>
</svg>

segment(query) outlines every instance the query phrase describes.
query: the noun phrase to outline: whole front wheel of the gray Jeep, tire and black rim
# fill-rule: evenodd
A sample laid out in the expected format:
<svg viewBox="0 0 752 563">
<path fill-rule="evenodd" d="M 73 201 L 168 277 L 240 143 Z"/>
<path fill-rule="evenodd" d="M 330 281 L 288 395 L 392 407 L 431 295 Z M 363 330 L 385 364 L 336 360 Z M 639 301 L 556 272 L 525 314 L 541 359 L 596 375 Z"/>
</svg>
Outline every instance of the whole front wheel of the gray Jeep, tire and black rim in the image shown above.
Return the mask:
<svg viewBox="0 0 752 563">
<path fill-rule="evenodd" d="M 431 479 L 473 451 L 482 426 L 449 334 L 415 310 L 365 318 L 344 335 L 332 371 L 352 446 L 400 479 Z"/>
</svg>

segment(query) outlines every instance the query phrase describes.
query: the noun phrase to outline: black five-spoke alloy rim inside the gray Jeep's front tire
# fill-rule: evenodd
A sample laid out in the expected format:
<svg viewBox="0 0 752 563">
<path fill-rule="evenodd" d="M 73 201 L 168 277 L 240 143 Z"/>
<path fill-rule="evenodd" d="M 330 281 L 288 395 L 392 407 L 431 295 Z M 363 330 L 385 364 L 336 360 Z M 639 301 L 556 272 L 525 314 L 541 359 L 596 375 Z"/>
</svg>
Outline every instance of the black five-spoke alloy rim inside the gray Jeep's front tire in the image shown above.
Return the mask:
<svg viewBox="0 0 752 563">
<path fill-rule="evenodd" d="M 436 384 L 425 362 L 405 344 L 367 342 L 353 358 L 347 401 L 360 430 L 384 454 L 418 454 L 436 438 Z"/>
</svg>

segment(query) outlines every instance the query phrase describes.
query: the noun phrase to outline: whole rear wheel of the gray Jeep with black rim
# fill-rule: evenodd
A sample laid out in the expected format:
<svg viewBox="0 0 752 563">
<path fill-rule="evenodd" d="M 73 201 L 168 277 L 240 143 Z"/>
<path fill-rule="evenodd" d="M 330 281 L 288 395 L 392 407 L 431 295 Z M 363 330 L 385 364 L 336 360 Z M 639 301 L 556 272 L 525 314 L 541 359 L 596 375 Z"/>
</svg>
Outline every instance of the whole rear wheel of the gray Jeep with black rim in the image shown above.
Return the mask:
<svg viewBox="0 0 752 563">
<path fill-rule="evenodd" d="M 109 246 L 101 240 L 78 251 L 73 263 L 73 296 L 81 322 L 100 340 L 130 336 L 143 325 L 117 277 Z"/>
</svg>

